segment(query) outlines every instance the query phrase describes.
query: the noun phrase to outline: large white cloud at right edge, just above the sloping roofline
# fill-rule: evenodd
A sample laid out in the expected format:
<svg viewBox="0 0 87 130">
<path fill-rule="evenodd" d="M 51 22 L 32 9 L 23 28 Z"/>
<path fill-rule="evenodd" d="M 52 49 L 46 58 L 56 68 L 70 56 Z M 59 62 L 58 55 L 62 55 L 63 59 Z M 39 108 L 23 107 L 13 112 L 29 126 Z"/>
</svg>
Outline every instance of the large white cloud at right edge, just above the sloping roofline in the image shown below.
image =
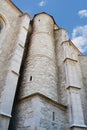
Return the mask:
<svg viewBox="0 0 87 130">
<path fill-rule="evenodd" d="M 73 29 L 72 41 L 81 52 L 87 53 L 87 25 Z"/>
</svg>

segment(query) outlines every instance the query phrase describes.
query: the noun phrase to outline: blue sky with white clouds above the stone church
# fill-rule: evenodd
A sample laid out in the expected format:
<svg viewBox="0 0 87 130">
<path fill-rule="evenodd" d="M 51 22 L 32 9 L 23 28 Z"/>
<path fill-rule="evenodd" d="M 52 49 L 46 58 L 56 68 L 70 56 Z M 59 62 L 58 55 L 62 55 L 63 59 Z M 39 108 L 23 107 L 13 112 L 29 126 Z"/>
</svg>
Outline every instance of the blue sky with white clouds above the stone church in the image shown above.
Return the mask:
<svg viewBox="0 0 87 130">
<path fill-rule="evenodd" d="M 68 30 L 70 39 L 87 54 L 87 0 L 12 0 L 31 17 L 40 12 L 52 15 L 59 27 Z"/>
</svg>

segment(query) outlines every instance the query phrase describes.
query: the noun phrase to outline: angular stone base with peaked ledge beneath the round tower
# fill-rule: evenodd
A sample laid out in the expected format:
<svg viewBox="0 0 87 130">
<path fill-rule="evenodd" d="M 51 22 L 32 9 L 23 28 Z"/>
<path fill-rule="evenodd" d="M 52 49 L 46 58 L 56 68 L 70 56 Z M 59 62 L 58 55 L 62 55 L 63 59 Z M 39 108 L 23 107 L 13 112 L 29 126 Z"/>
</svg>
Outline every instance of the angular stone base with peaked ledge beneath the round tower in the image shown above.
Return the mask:
<svg viewBox="0 0 87 130">
<path fill-rule="evenodd" d="M 12 130 L 69 130 L 66 107 L 45 96 L 32 95 L 16 107 Z"/>
</svg>

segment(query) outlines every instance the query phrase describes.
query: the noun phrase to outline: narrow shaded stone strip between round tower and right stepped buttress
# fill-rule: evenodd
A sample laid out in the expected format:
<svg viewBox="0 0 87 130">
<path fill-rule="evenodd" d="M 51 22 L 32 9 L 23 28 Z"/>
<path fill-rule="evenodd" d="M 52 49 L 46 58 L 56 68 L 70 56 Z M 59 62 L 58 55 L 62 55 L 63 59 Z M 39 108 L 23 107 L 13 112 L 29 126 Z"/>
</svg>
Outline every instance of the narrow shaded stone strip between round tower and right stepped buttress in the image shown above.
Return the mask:
<svg viewBox="0 0 87 130">
<path fill-rule="evenodd" d="M 69 40 L 67 30 L 63 28 L 54 29 L 55 37 L 55 51 L 56 51 L 56 63 L 58 67 L 58 95 L 59 102 L 66 105 L 67 102 L 67 92 L 65 88 L 65 68 L 64 68 L 64 51 L 62 47 L 62 42 Z M 68 53 L 68 52 L 67 52 Z"/>
</svg>

